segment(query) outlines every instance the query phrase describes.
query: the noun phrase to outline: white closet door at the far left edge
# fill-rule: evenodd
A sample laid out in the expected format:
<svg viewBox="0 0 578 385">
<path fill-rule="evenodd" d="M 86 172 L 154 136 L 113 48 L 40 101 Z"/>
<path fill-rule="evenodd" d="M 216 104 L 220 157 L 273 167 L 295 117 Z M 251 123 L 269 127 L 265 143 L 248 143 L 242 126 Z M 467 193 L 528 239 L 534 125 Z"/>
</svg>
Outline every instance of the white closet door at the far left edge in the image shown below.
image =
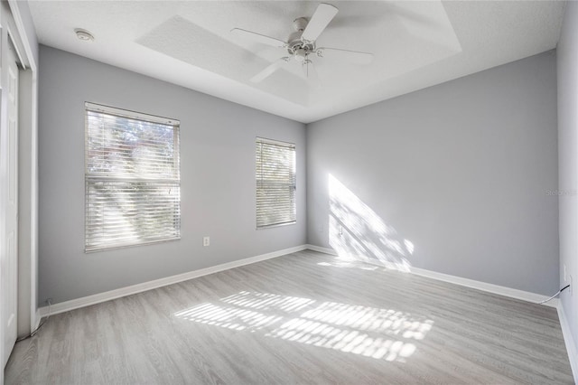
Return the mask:
<svg viewBox="0 0 578 385">
<path fill-rule="evenodd" d="M 16 64 L 16 54 L 12 44 L 8 44 L 8 77 L 6 81 L 7 96 L 7 127 L 5 145 L 5 249 L 0 252 L 2 256 L 2 295 L 0 300 L 3 306 L 2 327 L 4 328 L 4 350 L 5 367 L 10 357 L 10 352 L 16 342 L 16 311 L 18 297 L 18 65 Z"/>
</svg>

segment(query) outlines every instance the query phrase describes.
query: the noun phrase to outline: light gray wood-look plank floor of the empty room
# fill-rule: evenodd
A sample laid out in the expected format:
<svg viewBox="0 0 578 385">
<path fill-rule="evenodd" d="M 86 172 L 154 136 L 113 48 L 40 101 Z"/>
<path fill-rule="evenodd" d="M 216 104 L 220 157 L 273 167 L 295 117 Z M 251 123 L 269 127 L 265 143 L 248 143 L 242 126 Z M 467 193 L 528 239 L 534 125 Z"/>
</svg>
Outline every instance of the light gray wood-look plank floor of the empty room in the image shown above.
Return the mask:
<svg viewBox="0 0 578 385">
<path fill-rule="evenodd" d="M 302 251 L 53 315 L 5 382 L 573 383 L 555 309 Z"/>
</svg>

